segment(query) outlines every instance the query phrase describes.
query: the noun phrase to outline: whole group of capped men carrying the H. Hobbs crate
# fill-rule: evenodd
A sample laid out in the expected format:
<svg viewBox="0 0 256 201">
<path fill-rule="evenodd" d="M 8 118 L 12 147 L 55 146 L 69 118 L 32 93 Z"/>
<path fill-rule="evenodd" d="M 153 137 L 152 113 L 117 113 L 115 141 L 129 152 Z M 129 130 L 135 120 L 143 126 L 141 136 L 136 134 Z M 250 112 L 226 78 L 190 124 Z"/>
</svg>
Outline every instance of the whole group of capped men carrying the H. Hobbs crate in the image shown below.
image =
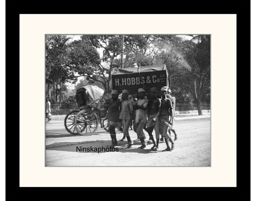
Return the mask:
<svg viewBox="0 0 256 201">
<path fill-rule="evenodd" d="M 126 149 L 132 148 L 133 142 L 128 130 L 131 123 L 133 123 L 133 130 L 137 133 L 138 139 L 141 141 L 141 147 L 139 149 L 144 149 L 147 145 L 143 133 L 144 129 L 149 134 L 150 141 L 153 142 L 152 151 L 158 151 L 159 141 L 163 141 L 163 139 L 167 145 L 167 148 L 163 151 L 171 151 L 174 149 L 174 143 L 170 131 L 175 134 L 174 140 L 177 140 L 177 135 L 173 128 L 176 117 L 175 97 L 171 96 L 171 90 L 167 86 L 164 86 L 161 89 L 152 87 L 150 88 L 150 93 L 146 93 L 143 88 L 139 88 L 137 92 L 137 100 L 133 102 L 132 100 L 128 100 L 128 90 L 124 89 L 122 91 L 121 100 L 118 99 L 118 90 L 112 90 L 112 98 L 104 105 L 108 110 L 109 132 L 112 140 L 111 146 L 115 147 L 118 145 L 115 127 L 120 127 L 121 124 L 124 138 L 126 137 L 128 140 Z M 158 96 L 159 93 L 160 97 Z M 155 131 L 156 141 L 152 135 L 153 131 Z M 160 135 L 162 135 L 161 139 Z M 170 147 L 169 141 L 172 147 Z"/>
</svg>

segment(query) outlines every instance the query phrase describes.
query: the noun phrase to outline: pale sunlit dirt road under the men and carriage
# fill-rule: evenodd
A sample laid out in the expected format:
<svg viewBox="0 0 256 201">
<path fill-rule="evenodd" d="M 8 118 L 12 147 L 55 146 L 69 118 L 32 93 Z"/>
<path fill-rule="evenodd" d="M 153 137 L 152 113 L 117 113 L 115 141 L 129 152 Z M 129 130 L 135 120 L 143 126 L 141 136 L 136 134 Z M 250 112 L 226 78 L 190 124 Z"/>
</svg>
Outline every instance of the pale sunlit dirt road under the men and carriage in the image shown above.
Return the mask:
<svg viewBox="0 0 256 201">
<path fill-rule="evenodd" d="M 127 141 L 119 141 L 111 150 L 110 134 L 105 130 L 98 129 L 90 136 L 71 135 L 63 121 L 53 121 L 46 124 L 45 166 L 211 166 L 210 118 L 176 122 L 175 130 L 178 140 L 171 152 L 162 152 L 165 143 L 159 144 L 157 152 L 150 150 L 152 144 L 137 149 L 140 141 L 134 142 L 132 149 L 124 149 Z M 129 134 L 132 140 L 137 139 L 134 131 Z M 117 140 L 122 136 L 117 131 Z M 146 137 L 148 140 L 147 133 Z"/>
</svg>

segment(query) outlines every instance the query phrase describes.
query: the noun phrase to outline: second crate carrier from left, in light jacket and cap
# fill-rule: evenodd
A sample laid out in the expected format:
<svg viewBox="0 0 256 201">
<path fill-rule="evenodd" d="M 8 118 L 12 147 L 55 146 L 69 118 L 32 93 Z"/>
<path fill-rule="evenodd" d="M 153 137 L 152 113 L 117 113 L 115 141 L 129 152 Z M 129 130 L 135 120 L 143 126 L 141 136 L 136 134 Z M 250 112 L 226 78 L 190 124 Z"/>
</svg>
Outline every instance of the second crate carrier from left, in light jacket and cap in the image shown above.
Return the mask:
<svg viewBox="0 0 256 201">
<path fill-rule="evenodd" d="M 129 91 L 124 89 L 122 91 L 122 101 L 120 102 L 120 115 L 119 115 L 119 119 L 122 120 L 122 124 L 123 124 L 124 136 L 126 136 L 128 140 L 128 146 L 126 149 L 131 148 L 133 144 L 129 135 L 129 127 L 133 117 L 133 105 L 132 105 L 132 101 L 128 100 L 128 96 L 129 96 Z"/>
</svg>

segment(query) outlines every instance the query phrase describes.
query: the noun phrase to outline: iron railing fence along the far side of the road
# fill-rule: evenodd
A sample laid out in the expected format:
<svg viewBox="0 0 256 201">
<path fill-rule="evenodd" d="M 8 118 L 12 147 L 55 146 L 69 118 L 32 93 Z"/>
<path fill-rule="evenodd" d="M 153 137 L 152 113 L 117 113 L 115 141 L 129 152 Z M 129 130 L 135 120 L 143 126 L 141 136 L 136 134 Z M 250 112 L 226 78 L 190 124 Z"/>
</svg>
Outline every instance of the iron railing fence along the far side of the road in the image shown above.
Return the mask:
<svg viewBox="0 0 256 201">
<path fill-rule="evenodd" d="M 72 110 L 78 109 L 77 104 L 51 104 L 51 113 L 52 115 L 66 115 Z M 210 104 L 201 104 L 202 110 L 210 110 Z M 176 111 L 189 111 L 197 110 L 196 105 L 185 105 L 185 104 L 176 104 Z"/>
</svg>

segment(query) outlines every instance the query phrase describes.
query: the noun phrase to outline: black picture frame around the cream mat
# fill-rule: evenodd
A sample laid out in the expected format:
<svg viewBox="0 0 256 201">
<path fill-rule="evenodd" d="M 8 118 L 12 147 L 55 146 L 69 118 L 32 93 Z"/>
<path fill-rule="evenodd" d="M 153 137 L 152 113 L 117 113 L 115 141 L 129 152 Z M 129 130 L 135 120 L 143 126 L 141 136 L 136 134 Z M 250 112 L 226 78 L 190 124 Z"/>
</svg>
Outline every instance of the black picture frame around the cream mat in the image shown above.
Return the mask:
<svg viewBox="0 0 256 201">
<path fill-rule="evenodd" d="M 120 4 L 119 9 L 110 11 L 107 6 L 103 5 L 99 8 L 97 5 L 86 5 L 81 6 L 79 4 L 73 7 L 60 5 L 60 2 L 51 1 L 50 4 L 47 2 L 40 2 L 35 6 L 35 2 L 20 1 L 12 2 L 6 1 L 6 200 L 14 200 L 15 197 L 18 199 L 26 200 L 67 200 L 68 196 L 72 197 L 72 200 L 87 199 L 89 195 L 103 194 L 105 199 L 116 198 L 117 192 L 121 195 L 130 194 L 132 199 L 136 199 L 134 193 L 140 192 L 147 193 L 146 195 L 156 195 L 158 199 L 159 194 L 166 194 L 170 199 L 177 197 L 179 200 L 196 200 L 205 201 L 207 199 L 216 200 L 230 200 L 231 197 L 243 197 L 243 201 L 250 199 L 250 138 L 247 136 L 250 132 L 245 132 L 245 125 L 241 123 L 241 118 L 237 118 L 237 187 L 151 187 L 154 191 L 151 192 L 150 188 L 94 188 L 97 194 L 93 194 L 91 188 L 75 188 L 75 187 L 20 187 L 19 185 L 19 122 L 15 123 L 15 129 L 10 119 L 13 118 L 13 112 L 15 111 L 16 118 L 19 117 L 19 14 L 89 14 L 96 13 L 128 13 L 128 14 L 236 14 L 237 15 L 237 89 L 249 88 L 250 91 L 250 1 L 244 0 L 241 3 L 235 3 L 234 1 L 220 1 L 214 2 L 196 1 L 188 2 L 187 4 L 181 2 L 171 2 L 170 5 L 163 5 L 160 2 L 153 2 L 146 8 L 145 5 L 139 6 L 129 2 L 130 6 L 124 6 Z M 155 6 L 158 3 L 158 6 Z M 112 2 L 111 4 L 119 5 L 118 3 Z M 148 3 L 150 4 L 150 3 Z M 132 6 L 133 5 L 133 6 Z M 200 6 L 199 6 L 200 5 Z M 124 9 L 124 7 L 126 7 Z M 131 8 L 132 7 L 132 8 Z M 56 9 L 57 8 L 57 9 Z M 72 9 L 73 8 L 73 9 Z M 131 11 L 132 10 L 132 11 Z M 152 13 L 151 13 L 152 12 Z M 155 12 L 155 13 L 154 13 Z M 106 13 L 108 14 L 108 13 Z M 228 37 L 223 33 L 223 37 Z M 246 51 L 246 55 L 244 52 Z M 11 62 L 9 62 L 11 61 Z M 11 75 L 11 76 L 10 76 Z M 13 87 L 10 87 L 10 78 L 14 80 Z M 29 90 L 29 89 L 28 89 Z M 228 89 L 227 89 L 228 90 Z M 241 112 L 241 106 L 246 105 L 247 117 L 250 118 L 250 94 L 241 94 L 237 91 L 237 111 Z M 241 95 L 241 96 L 240 96 Z M 221 97 L 220 97 L 221 98 Z M 249 98 L 249 103 L 247 98 Z M 28 101 L 36 101 L 36 97 L 28 97 Z M 223 100 L 224 102 L 226 100 Z M 243 101 L 243 102 L 242 102 Z M 246 101 L 246 103 L 244 103 Z M 10 109 L 10 111 L 9 111 Z M 31 109 L 28 109 L 28 113 L 31 113 Z M 227 113 L 223 114 L 228 118 Z M 239 115 L 239 114 L 238 114 Z M 19 117 L 29 118 L 31 117 Z M 248 125 L 249 124 L 249 125 Z M 243 127 L 243 128 L 242 128 Z M 246 123 L 246 127 L 250 128 L 250 121 Z M 220 128 L 221 129 L 221 128 Z M 35 132 L 36 135 L 36 132 Z M 243 141 L 241 141 L 243 139 Z M 221 139 L 220 139 L 221 140 Z M 31 142 L 36 143 L 36 142 Z M 32 160 L 32 159 L 31 159 Z M 160 173 L 159 173 L 160 174 Z M 116 175 L 120 176 L 120 179 L 143 179 L 143 176 L 148 175 L 137 175 L 134 178 L 133 175 L 129 178 L 128 175 Z M 164 188 L 164 189 L 163 189 Z M 68 190 L 68 191 L 67 191 Z M 98 193 L 105 191 L 104 193 Z M 68 195 L 67 195 L 68 194 Z M 141 193 L 142 194 L 142 193 Z M 144 196 L 146 196 L 144 195 Z M 119 198 L 118 198 L 119 197 Z M 151 196 L 150 196 L 151 197 Z M 152 199 L 152 198 L 151 198 Z M 157 198 L 156 198 L 157 199 Z"/>
</svg>

